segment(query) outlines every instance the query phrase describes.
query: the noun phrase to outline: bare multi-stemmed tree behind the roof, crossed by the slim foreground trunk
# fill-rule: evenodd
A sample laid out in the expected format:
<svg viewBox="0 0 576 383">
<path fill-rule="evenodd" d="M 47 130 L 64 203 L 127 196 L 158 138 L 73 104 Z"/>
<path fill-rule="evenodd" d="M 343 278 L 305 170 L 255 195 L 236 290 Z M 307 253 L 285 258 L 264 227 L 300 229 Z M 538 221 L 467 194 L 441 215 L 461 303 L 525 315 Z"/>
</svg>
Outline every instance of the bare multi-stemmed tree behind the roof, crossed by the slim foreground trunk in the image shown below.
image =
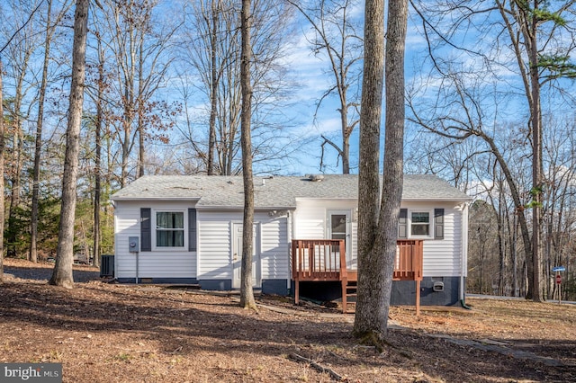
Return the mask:
<svg viewBox="0 0 576 383">
<path fill-rule="evenodd" d="M 205 106 L 202 106 L 205 111 L 196 109 L 192 112 L 192 108 L 184 107 L 186 124 L 179 128 L 202 163 L 202 171 L 239 174 L 242 166 L 238 1 L 191 3 L 193 12 L 187 15 L 189 29 L 182 44 L 184 67 L 181 77 L 190 76 L 192 67 L 199 81 L 184 79 L 182 93 L 184 104 L 197 104 L 200 93 L 205 100 Z M 251 6 L 252 61 L 255 64 L 251 67 L 253 162 L 255 165 L 266 162 L 266 170 L 275 172 L 294 150 L 285 145 L 294 140 L 284 133 L 288 119 L 283 116 L 283 102 L 293 86 L 286 80 L 287 68 L 283 61 L 285 42 L 292 30 L 293 8 L 280 0 L 257 0 Z"/>
</svg>

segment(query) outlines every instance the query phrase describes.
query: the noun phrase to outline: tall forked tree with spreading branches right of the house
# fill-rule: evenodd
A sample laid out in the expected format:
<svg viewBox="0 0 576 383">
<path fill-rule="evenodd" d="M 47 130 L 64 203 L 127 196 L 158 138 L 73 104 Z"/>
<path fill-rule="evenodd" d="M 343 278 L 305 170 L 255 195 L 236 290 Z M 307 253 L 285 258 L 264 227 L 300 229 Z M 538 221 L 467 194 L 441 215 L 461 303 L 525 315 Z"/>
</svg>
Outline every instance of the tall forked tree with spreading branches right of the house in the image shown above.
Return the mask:
<svg viewBox="0 0 576 383">
<path fill-rule="evenodd" d="M 522 99 L 514 104 L 515 114 L 524 114 L 526 122 L 524 128 L 516 133 L 517 139 L 523 138 L 524 144 L 529 147 L 532 158 L 532 185 L 527 188 L 531 200 L 527 204 L 521 203 L 520 198 L 513 196 L 518 218 L 520 221 L 522 239 L 527 254 L 527 265 L 529 273 L 529 289 L 527 297 L 536 301 L 542 300 L 541 276 L 542 264 L 542 243 L 541 224 L 543 208 L 542 196 L 545 192 L 545 183 L 542 165 L 542 96 L 543 85 L 555 85 L 563 88 L 563 77 L 573 78 L 575 76 L 574 64 L 570 58 L 576 46 L 573 38 L 576 29 L 573 24 L 567 22 L 572 18 L 575 3 L 572 0 L 550 2 L 547 0 L 498 0 L 492 1 L 462 1 L 462 2 L 416 2 L 415 8 L 422 16 L 422 26 L 427 35 L 429 45 L 428 50 L 431 56 L 431 63 L 437 73 L 443 78 L 439 84 L 444 88 L 446 84 L 454 84 L 453 78 L 457 75 L 464 78 L 457 81 L 459 94 L 464 94 L 468 100 L 463 104 L 460 114 L 470 117 L 471 111 L 480 111 L 475 117 L 482 120 L 487 114 L 492 114 L 491 120 L 509 118 L 505 108 L 499 105 L 502 102 L 500 97 L 489 108 L 479 108 L 485 94 L 477 94 L 471 89 L 470 78 L 474 76 L 482 77 L 483 84 L 493 79 L 490 85 L 491 92 L 507 92 L 508 99 L 513 99 L 510 89 L 517 89 Z M 461 39 L 459 32 L 465 31 L 467 36 L 477 36 L 479 39 L 470 42 L 472 39 Z M 436 36 L 436 39 L 431 39 Z M 570 38 L 566 38 L 570 36 Z M 486 40 L 491 37 L 497 41 L 494 44 L 486 44 Z M 469 44 L 464 46 L 463 42 Z M 446 50 L 455 49 L 453 59 L 446 60 Z M 440 57 L 437 51 L 442 51 Z M 455 58 L 464 55 L 464 63 L 457 63 Z M 473 59 L 471 59 L 473 58 Z M 471 64 L 472 63 L 472 64 Z M 482 63 L 482 64 L 481 64 Z M 458 68 L 458 66 L 460 66 Z M 506 76 L 502 76 L 506 73 Z M 514 73 L 516 76 L 509 76 Z M 464 75 L 464 76 L 463 76 Z M 465 79 L 467 77 L 467 79 Z M 447 80 L 447 81 L 446 81 Z M 500 89 L 505 86 L 506 89 Z M 550 89 L 553 89 L 550 86 Z M 453 90 L 454 91 L 454 90 Z M 552 91 L 551 91 L 552 92 Z M 448 94 L 448 92 L 446 92 Z M 562 95 L 562 93 L 561 93 Z M 559 99 L 561 101 L 562 99 Z M 518 105 L 521 105 L 519 110 Z M 420 107 L 421 111 L 425 108 Z M 426 113 L 426 112 L 425 112 Z M 454 111 L 450 116 L 443 116 L 437 119 L 434 124 L 437 130 L 446 133 L 461 125 L 461 121 L 455 118 Z M 448 123 L 452 120 L 453 123 Z M 489 133 L 489 129 L 479 125 L 475 131 L 482 131 L 482 136 L 473 133 L 467 137 L 481 137 L 491 149 L 499 149 L 499 142 L 494 140 L 494 135 Z M 462 135 L 460 135 L 462 138 Z M 500 150 L 501 152 L 501 150 Z M 498 157 L 496 152 L 494 155 Z M 500 163 L 500 158 L 499 164 Z M 509 181 L 510 190 L 518 189 L 513 178 L 507 174 L 507 169 L 502 167 L 502 171 Z M 518 190 L 522 193 L 522 190 Z M 532 230 L 525 222 L 527 211 L 532 211 Z"/>
</svg>

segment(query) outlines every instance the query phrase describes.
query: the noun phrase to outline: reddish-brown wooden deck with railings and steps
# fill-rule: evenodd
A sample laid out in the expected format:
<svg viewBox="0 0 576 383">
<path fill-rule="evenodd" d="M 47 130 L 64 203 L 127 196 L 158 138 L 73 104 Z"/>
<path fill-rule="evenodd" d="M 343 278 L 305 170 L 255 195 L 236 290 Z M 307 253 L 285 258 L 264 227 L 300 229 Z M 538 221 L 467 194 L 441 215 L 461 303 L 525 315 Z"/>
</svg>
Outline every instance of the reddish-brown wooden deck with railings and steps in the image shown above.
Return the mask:
<svg viewBox="0 0 576 383">
<path fill-rule="evenodd" d="M 416 314 L 419 315 L 423 241 L 399 240 L 396 248 L 392 280 L 416 282 Z M 358 273 L 347 268 L 343 239 L 293 239 L 292 278 L 296 304 L 301 281 L 340 281 L 344 313 L 347 312 L 347 298 L 356 295 Z"/>
</svg>

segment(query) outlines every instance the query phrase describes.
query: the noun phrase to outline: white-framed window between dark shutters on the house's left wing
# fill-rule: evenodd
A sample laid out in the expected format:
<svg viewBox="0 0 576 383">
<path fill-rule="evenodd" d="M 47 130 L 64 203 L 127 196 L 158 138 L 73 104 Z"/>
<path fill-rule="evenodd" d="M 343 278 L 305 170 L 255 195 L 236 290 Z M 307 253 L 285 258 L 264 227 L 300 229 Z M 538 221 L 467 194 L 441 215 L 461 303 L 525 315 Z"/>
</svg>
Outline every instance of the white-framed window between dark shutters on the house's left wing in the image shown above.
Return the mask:
<svg viewBox="0 0 576 383">
<path fill-rule="evenodd" d="M 185 249 L 186 219 L 184 210 L 156 210 L 153 215 L 155 247 Z"/>
</svg>

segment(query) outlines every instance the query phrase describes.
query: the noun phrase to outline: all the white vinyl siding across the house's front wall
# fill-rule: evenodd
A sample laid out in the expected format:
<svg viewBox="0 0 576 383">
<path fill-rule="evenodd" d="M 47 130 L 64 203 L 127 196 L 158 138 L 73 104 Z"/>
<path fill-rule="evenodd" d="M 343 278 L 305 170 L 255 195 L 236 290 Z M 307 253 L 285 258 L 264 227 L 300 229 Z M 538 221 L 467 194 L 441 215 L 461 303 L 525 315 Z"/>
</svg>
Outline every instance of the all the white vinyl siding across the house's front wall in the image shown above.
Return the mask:
<svg viewBox="0 0 576 383">
<path fill-rule="evenodd" d="M 463 272 L 463 212 L 454 202 L 403 202 L 409 211 L 444 209 L 444 238 L 424 240 L 424 276 L 450 277 Z M 130 253 L 128 239 L 140 236 L 140 208 L 154 211 L 184 211 L 187 222 L 191 201 L 116 201 L 115 273 L 117 278 L 136 276 L 136 254 Z M 290 239 L 320 239 L 329 234 L 329 211 L 350 213 L 349 267 L 357 267 L 356 200 L 298 200 L 297 209 L 287 216 L 272 217 L 267 211 L 256 213 L 260 227 L 261 278 L 290 279 Z M 139 278 L 197 278 L 198 280 L 232 279 L 232 223 L 242 222 L 239 210 L 196 210 L 197 252 L 153 248 L 139 252 Z M 288 227 L 288 225 L 291 227 Z M 184 225 L 186 225 L 184 223 Z M 465 227 L 465 226 L 464 226 Z M 432 227 L 431 227 L 432 229 Z M 289 236 L 289 230 L 293 235 Z"/>
</svg>

